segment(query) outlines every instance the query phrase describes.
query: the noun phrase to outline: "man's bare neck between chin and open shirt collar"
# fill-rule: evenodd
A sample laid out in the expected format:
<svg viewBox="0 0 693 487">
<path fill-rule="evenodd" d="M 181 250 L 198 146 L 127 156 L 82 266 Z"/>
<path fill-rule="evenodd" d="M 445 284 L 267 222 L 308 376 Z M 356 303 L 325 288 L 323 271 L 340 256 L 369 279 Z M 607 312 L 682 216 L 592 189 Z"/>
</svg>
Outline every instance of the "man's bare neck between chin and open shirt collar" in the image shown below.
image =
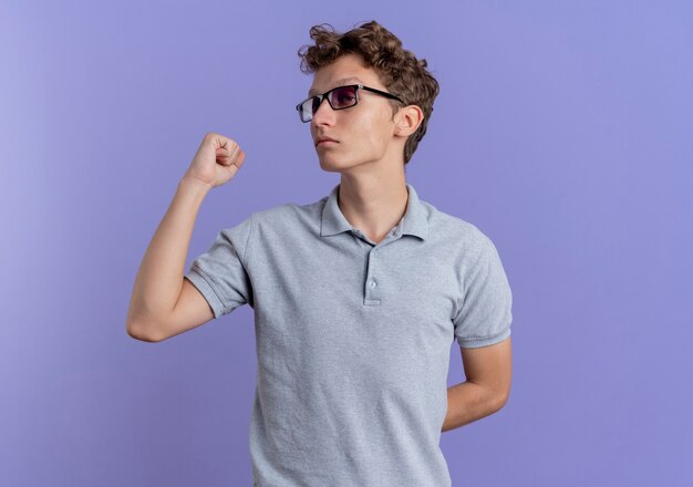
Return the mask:
<svg viewBox="0 0 693 487">
<path fill-rule="evenodd" d="M 400 222 L 407 201 L 404 167 L 342 173 L 338 198 L 340 210 L 352 227 L 376 244 Z"/>
</svg>

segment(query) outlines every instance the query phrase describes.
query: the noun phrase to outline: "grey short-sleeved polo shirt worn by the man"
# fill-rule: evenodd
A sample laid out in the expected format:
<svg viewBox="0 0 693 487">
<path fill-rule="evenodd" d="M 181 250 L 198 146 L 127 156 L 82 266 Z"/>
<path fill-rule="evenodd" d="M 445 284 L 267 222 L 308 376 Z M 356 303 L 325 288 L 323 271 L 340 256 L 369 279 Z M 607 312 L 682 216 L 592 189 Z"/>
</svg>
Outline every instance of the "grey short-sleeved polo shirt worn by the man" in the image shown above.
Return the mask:
<svg viewBox="0 0 693 487">
<path fill-rule="evenodd" d="M 255 486 L 444 487 L 451 345 L 510 335 L 494 244 L 418 199 L 375 245 L 339 185 L 221 230 L 185 276 L 215 318 L 255 310 Z"/>
</svg>

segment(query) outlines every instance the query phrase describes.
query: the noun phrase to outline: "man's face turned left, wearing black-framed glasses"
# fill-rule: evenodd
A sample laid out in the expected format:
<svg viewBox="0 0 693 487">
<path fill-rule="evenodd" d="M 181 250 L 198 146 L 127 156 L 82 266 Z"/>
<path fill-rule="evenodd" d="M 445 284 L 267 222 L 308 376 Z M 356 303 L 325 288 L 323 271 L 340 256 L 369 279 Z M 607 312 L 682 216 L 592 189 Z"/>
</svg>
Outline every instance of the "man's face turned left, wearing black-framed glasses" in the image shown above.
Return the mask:
<svg viewBox="0 0 693 487">
<path fill-rule="evenodd" d="M 345 84 L 364 84 L 387 91 L 377 73 L 364 66 L 361 56 L 345 54 L 316 72 L 309 96 Z M 364 90 L 359 91 L 359 104 L 344 110 L 334 111 L 323 100 L 310 122 L 320 167 L 329 172 L 396 158 L 397 153 L 402 156 L 401 143 L 394 144 L 394 131 L 389 100 Z M 335 142 L 318 143 L 321 137 Z"/>
</svg>

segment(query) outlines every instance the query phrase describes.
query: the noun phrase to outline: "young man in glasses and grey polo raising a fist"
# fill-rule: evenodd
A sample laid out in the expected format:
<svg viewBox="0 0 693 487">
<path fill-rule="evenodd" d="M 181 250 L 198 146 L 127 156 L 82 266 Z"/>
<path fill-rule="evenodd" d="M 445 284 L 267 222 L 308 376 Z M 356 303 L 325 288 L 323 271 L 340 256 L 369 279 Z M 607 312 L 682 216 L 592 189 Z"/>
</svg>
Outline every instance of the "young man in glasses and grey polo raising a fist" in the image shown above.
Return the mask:
<svg viewBox="0 0 693 487">
<path fill-rule="evenodd" d="M 510 289 L 488 237 L 405 182 L 438 92 L 426 62 L 376 22 L 311 38 L 297 110 L 340 184 L 220 231 L 184 276 L 204 196 L 245 160 L 207 134 L 147 249 L 127 331 L 156 342 L 254 308 L 257 486 L 449 486 L 441 432 L 509 394 Z M 454 339 L 466 381 L 447 388 Z"/>
</svg>

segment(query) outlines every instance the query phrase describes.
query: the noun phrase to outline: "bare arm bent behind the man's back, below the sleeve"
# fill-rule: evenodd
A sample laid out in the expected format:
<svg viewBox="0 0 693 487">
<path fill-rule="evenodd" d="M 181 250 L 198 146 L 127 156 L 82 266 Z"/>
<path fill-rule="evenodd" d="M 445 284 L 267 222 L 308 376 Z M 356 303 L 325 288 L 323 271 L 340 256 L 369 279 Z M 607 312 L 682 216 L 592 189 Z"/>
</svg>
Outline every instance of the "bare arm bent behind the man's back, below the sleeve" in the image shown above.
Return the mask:
<svg viewBox="0 0 693 487">
<path fill-rule="evenodd" d="M 467 380 L 447 388 L 443 432 L 499 411 L 510 395 L 513 356 L 510 338 L 476 349 L 459 349 Z"/>
</svg>

